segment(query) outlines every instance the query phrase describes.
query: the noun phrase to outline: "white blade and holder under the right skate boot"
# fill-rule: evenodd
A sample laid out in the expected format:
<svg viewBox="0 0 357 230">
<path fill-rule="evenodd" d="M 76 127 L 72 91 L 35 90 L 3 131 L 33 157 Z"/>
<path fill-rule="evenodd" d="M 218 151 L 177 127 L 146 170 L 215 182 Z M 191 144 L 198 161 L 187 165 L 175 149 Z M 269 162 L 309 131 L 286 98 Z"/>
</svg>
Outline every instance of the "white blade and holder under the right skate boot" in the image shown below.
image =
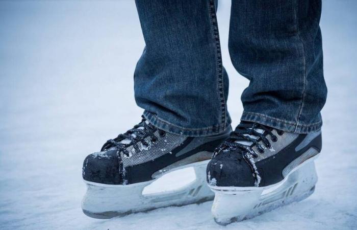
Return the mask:
<svg viewBox="0 0 357 230">
<path fill-rule="evenodd" d="M 315 190 L 317 173 L 314 159 L 306 160 L 283 181 L 266 187 L 210 186 L 215 193 L 212 215 L 216 223 L 227 225 L 261 215 L 309 197 Z"/>
</svg>

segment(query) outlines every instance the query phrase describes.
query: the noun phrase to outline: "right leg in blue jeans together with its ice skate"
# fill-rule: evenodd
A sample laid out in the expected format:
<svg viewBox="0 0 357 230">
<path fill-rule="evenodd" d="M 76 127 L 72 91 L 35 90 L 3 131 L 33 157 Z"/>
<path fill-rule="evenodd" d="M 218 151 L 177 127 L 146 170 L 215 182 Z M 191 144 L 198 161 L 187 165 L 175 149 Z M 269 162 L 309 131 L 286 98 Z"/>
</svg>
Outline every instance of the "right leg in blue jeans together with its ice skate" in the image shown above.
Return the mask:
<svg viewBox="0 0 357 230">
<path fill-rule="evenodd" d="M 321 0 L 235 0 L 229 49 L 250 80 L 241 123 L 207 166 L 220 224 L 310 196 L 326 100 Z M 274 188 L 274 189 L 272 189 Z"/>
</svg>

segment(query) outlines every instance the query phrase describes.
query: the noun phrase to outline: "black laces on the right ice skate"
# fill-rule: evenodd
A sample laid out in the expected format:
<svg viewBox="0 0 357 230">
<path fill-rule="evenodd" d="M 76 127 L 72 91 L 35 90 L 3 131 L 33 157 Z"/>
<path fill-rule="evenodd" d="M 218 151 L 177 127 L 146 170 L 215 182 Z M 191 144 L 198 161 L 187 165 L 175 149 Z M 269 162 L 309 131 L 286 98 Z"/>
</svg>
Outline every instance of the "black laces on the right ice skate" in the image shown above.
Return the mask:
<svg viewBox="0 0 357 230">
<path fill-rule="evenodd" d="M 254 129 L 263 129 L 265 133 L 257 132 Z M 264 125 L 260 125 L 257 123 L 241 123 L 237 126 L 237 128 L 231 132 L 230 137 L 223 142 L 219 147 L 216 148 L 214 155 L 217 155 L 222 150 L 238 150 L 241 153 L 249 152 L 252 154 L 253 158 L 257 158 L 258 154 L 252 150 L 252 147 L 255 145 L 260 153 L 264 152 L 263 145 L 266 148 L 270 148 L 271 144 L 267 139 L 267 135 L 271 136 L 271 141 L 276 142 L 277 136 L 272 133 L 272 128 L 269 128 Z M 278 135 L 282 135 L 283 131 L 276 129 Z M 250 136 L 256 136 L 257 139 L 253 139 Z M 248 141 L 252 144 L 250 146 L 244 145 L 241 143 L 237 143 L 237 141 Z"/>
</svg>

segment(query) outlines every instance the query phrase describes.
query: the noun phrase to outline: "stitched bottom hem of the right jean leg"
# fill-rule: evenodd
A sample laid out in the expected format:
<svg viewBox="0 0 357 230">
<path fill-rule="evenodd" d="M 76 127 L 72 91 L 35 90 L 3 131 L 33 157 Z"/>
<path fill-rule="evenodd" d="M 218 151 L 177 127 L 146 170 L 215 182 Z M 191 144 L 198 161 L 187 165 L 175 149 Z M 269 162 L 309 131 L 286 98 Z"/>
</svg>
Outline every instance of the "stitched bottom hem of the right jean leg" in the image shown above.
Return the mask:
<svg viewBox="0 0 357 230">
<path fill-rule="evenodd" d="M 317 123 L 302 125 L 295 122 L 273 118 L 261 113 L 245 111 L 242 114 L 241 121 L 256 122 L 258 124 L 266 125 L 279 130 L 296 133 L 309 133 L 318 131 L 322 126 L 322 120 Z"/>
</svg>

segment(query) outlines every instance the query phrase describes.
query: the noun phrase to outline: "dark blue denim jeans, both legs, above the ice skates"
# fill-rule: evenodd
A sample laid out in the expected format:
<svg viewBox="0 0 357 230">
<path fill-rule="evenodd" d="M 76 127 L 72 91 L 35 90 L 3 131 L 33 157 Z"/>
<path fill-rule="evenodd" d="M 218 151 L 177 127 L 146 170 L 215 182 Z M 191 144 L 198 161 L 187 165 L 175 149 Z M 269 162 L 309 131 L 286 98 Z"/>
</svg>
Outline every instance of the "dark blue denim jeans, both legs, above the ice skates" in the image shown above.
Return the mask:
<svg viewBox="0 0 357 230">
<path fill-rule="evenodd" d="M 135 99 L 156 127 L 188 136 L 223 132 L 228 76 L 214 0 L 136 0 L 146 47 Z M 319 27 L 321 0 L 232 0 L 228 49 L 249 79 L 242 121 L 284 131 L 321 128 L 327 88 Z"/>
</svg>

